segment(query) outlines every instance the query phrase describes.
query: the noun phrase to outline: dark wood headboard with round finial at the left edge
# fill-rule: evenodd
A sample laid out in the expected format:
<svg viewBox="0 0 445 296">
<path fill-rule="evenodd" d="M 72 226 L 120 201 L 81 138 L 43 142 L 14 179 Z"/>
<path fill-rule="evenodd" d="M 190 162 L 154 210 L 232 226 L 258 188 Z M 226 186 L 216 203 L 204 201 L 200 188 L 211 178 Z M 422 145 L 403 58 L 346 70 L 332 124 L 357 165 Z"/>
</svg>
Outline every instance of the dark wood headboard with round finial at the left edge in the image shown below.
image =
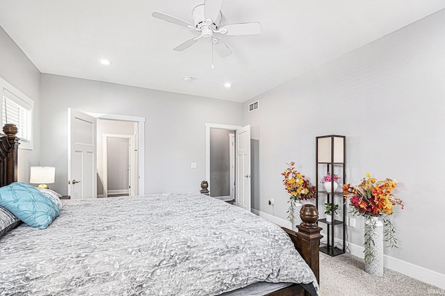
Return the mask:
<svg viewBox="0 0 445 296">
<path fill-rule="evenodd" d="M 4 134 L 3 134 L 4 133 Z M 0 187 L 17 182 L 17 126 L 5 124 L 0 133 Z"/>
</svg>

